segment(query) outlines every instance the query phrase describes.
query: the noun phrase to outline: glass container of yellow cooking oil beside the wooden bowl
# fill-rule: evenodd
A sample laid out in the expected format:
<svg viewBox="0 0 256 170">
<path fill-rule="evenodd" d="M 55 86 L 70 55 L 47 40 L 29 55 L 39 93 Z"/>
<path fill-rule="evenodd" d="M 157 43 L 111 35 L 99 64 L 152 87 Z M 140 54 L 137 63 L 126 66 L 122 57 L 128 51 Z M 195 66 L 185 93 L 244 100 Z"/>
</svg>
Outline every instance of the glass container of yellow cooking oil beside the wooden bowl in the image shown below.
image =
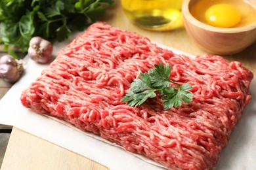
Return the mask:
<svg viewBox="0 0 256 170">
<path fill-rule="evenodd" d="M 154 31 L 183 27 L 182 0 L 121 0 L 123 10 L 134 24 Z"/>
</svg>

